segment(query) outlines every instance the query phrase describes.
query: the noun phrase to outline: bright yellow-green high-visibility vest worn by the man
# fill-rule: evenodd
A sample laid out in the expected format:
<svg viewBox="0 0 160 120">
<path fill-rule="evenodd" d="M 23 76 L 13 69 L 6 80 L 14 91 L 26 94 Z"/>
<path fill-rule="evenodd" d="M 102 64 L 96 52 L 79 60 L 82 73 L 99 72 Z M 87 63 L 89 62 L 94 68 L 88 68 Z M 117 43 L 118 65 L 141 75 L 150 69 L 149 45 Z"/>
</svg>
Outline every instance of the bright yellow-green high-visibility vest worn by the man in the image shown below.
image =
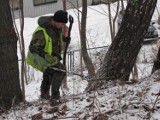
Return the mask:
<svg viewBox="0 0 160 120">
<path fill-rule="evenodd" d="M 44 51 L 48 54 L 52 54 L 52 39 L 51 37 L 47 34 L 46 30 L 42 27 L 37 27 L 37 29 L 34 31 L 32 39 L 34 37 L 34 35 L 38 32 L 42 30 L 44 37 L 45 37 L 45 47 L 44 47 Z M 48 63 L 43 57 L 39 56 L 36 53 L 31 53 L 30 50 L 28 50 L 28 54 L 27 54 L 27 58 L 26 61 L 29 65 L 31 65 L 32 67 L 36 68 L 37 70 L 40 71 L 44 71 L 47 67 L 53 65 Z"/>
</svg>

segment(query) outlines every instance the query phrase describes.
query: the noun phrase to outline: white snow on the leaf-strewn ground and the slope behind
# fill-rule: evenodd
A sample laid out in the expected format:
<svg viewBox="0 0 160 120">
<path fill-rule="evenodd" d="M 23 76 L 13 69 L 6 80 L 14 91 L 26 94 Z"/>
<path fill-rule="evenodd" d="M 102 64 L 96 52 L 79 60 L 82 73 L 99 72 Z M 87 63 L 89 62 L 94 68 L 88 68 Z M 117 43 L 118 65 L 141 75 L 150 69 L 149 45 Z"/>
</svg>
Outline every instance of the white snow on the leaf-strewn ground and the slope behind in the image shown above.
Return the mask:
<svg viewBox="0 0 160 120">
<path fill-rule="evenodd" d="M 160 11 L 159 6 L 160 0 L 157 3 L 157 9 Z M 116 3 L 111 5 L 113 16 L 115 9 Z M 70 9 L 68 12 L 74 17 L 75 21 L 71 33 L 70 50 L 77 50 L 80 48 L 77 11 Z M 155 10 L 152 20 L 157 20 L 157 16 L 158 13 Z M 26 53 L 32 33 L 37 27 L 38 18 L 24 19 Z M 19 19 L 16 19 L 16 25 L 18 30 L 20 30 Z M 157 24 L 155 26 L 159 27 Z M 87 13 L 87 43 L 89 48 L 110 45 L 111 37 L 109 31 L 107 6 L 104 4 L 89 6 Z M 158 32 L 160 33 L 160 30 Z M 79 76 L 68 75 L 68 89 L 61 88 L 61 96 L 66 98 L 67 101 L 61 104 L 56 112 L 53 112 L 53 108 L 49 106 L 49 101 L 40 100 L 39 90 L 42 73 L 31 69 L 29 84 L 26 85 L 27 103 L 22 103 L 19 107 L 13 107 L 10 111 L 4 112 L 0 119 L 31 120 L 33 116 L 39 116 L 41 119 L 58 117 L 58 119 L 66 120 L 93 120 L 97 115 L 99 117 L 101 115 L 101 118 L 105 115 L 104 118 L 109 120 L 142 120 L 149 119 L 149 117 L 150 120 L 160 120 L 160 77 L 158 76 L 160 71 L 150 76 L 157 49 L 158 43 L 142 47 L 137 60 L 139 79 L 133 84 L 109 81 L 106 83 L 108 88 L 93 91 L 89 94 L 85 91 L 87 80 L 82 80 Z M 155 106 L 154 103 L 156 103 Z M 154 112 L 151 112 L 153 107 L 155 108 Z M 103 119 L 99 118 L 99 120 Z"/>
</svg>

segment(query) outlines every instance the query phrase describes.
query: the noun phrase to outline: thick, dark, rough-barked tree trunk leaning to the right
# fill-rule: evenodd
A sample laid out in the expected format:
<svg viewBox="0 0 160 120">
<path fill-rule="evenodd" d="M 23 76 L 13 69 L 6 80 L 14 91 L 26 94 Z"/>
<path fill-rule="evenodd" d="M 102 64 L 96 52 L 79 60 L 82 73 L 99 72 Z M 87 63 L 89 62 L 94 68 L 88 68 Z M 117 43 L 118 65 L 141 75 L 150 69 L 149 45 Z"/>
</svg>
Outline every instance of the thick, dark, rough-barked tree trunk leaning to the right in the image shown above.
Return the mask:
<svg viewBox="0 0 160 120">
<path fill-rule="evenodd" d="M 91 80 L 87 89 L 94 89 L 95 85 L 102 87 L 107 80 L 129 79 L 156 3 L 157 0 L 142 0 L 139 3 L 129 1 L 120 29 L 105 55 L 103 65 L 92 79 L 99 79 L 98 83 L 92 83 Z"/>
</svg>

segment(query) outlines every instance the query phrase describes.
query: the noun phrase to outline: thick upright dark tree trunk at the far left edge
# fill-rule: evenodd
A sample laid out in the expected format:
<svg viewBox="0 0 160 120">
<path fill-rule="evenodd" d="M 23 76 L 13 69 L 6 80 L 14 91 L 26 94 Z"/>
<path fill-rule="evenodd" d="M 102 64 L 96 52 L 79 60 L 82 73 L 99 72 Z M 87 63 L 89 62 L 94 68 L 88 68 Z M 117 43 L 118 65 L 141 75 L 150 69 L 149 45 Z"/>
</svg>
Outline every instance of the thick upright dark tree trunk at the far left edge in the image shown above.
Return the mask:
<svg viewBox="0 0 160 120">
<path fill-rule="evenodd" d="M 0 106 L 10 109 L 13 104 L 23 100 L 19 82 L 17 35 L 9 0 L 1 0 L 0 5 Z"/>
</svg>

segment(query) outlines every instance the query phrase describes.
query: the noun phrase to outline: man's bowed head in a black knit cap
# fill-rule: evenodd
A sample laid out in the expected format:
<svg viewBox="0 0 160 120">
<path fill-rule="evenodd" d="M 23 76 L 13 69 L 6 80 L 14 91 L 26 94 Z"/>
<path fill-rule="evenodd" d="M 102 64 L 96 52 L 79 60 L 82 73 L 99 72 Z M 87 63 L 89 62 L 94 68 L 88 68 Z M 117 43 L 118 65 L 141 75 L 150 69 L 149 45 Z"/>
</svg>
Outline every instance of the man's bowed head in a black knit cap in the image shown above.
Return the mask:
<svg viewBox="0 0 160 120">
<path fill-rule="evenodd" d="M 52 19 L 54 21 L 53 25 L 58 29 L 62 29 L 64 25 L 68 22 L 68 13 L 63 10 L 59 10 L 55 12 Z"/>
</svg>

